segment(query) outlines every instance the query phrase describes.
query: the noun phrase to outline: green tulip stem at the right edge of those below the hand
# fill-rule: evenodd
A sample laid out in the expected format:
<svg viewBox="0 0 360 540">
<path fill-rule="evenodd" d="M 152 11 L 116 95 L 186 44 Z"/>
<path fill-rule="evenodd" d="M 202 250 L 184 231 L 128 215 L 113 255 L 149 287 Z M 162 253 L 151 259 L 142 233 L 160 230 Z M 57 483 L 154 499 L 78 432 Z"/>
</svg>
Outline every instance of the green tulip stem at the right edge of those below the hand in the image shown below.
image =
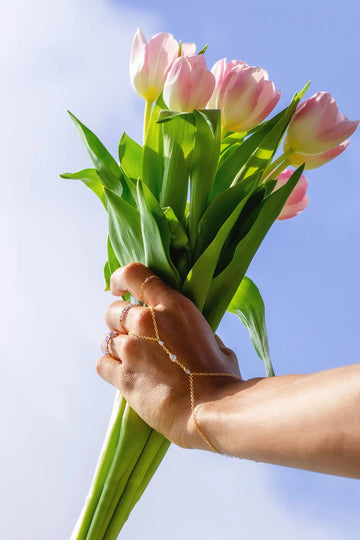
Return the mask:
<svg viewBox="0 0 360 540">
<path fill-rule="evenodd" d="M 105 533 L 104 540 L 116 540 L 131 510 L 155 474 L 169 445 L 170 442 L 165 437 L 157 433 L 157 431 L 152 430 L 146 446 L 119 499 L 117 508 Z"/>
</svg>

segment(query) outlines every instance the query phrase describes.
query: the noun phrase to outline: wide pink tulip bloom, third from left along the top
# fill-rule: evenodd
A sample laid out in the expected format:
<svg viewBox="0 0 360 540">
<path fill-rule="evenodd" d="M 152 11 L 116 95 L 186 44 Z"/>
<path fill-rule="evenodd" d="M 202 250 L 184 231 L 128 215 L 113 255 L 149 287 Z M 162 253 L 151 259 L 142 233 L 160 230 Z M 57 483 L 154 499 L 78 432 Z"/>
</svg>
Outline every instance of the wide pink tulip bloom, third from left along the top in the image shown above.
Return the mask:
<svg viewBox="0 0 360 540">
<path fill-rule="evenodd" d="M 209 106 L 221 109 L 224 131 L 246 132 L 264 120 L 280 99 L 264 69 L 222 59 L 213 66 L 217 79 Z"/>
</svg>

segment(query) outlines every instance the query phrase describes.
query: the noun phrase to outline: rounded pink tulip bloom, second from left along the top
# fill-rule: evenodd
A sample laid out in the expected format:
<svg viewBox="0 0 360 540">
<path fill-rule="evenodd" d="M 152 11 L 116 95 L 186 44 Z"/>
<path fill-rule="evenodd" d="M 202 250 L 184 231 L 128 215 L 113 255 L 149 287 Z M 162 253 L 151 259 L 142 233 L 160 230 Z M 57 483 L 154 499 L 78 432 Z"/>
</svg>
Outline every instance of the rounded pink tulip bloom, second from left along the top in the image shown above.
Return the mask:
<svg viewBox="0 0 360 540">
<path fill-rule="evenodd" d="M 173 111 L 204 109 L 215 86 L 203 54 L 179 57 L 173 63 L 164 85 L 164 101 Z"/>
</svg>

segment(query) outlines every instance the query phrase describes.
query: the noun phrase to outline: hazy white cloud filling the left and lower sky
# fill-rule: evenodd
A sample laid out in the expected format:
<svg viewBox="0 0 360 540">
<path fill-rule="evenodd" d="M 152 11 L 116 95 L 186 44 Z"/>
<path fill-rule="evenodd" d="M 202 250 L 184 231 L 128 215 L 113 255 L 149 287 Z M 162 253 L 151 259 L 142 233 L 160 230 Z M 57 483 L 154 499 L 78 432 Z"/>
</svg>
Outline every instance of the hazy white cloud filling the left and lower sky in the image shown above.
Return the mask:
<svg viewBox="0 0 360 540">
<path fill-rule="evenodd" d="M 157 24 L 100 0 L 0 5 L 2 538 L 62 540 L 90 481 L 113 395 L 93 369 L 106 223 L 92 194 L 58 179 L 89 163 L 65 111 L 114 152 L 124 128 L 139 136 L 129 50 L 136 26 Z M 270 495 L 265 466 L 173 449 L 123 538 L 145 523 L 149 539 L 339 538 Z"/>
</svg>

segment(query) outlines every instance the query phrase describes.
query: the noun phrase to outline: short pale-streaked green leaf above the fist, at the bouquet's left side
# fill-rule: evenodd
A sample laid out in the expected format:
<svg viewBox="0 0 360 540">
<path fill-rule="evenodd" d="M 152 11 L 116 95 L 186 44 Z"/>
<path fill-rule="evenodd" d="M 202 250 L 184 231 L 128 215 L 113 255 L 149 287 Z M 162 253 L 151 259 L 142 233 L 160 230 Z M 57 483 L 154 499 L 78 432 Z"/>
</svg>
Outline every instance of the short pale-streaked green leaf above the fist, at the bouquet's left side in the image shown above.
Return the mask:
<svg viewBox="0 0 360 540">
<path fill-rule="evenodd" d="M 139 210 L 105 189 L 109 209 L 109 236 L 119 265 L 146 264 Z"/>
</svg>

